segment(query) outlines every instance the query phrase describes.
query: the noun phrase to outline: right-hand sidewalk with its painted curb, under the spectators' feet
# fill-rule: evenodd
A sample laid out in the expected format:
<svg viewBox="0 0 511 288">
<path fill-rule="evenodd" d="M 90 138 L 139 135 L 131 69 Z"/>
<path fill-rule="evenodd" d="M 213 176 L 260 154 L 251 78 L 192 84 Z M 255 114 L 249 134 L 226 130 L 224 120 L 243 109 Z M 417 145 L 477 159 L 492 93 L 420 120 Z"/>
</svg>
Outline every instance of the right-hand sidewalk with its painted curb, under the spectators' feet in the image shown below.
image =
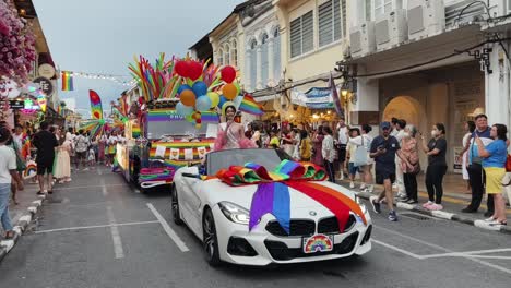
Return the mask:
<svg viewBox="0 0 511 288">
<path fill-rule="evenodd" d="M 349 187 L 348 180 L 337 181 L 337 183 L 345 188 Z M 355 183 L 356 183 L 355 189 L 352 189 L 352 190 L 358 196 L 366 199 L 366 200 L 369 200 L 370 196 L 377 195 L 379 192 L 383 190 L 382 185 L 375 185 L 375 192 L 372 194 L 365 193 L 358 189 L 360 187 L 359 182 L 355 181 Z M 396 206 L 399 208 L 414 211 L 414 212 L 429 215 L 429 216 L 440 217 L 440 218 L 454 220 L 454 221 L 461 221 L 461 223 L 468 224 L 468 225 L 483 228 L 483 229 L 487 229 L 487 230 L 511 233 L 511 226 L 489 226 L 484 221 L 484 219 L 488 218 L 484 216 L 485 212 L 487 211 L 486 199 L 483 201 L 483 204 L 480 205 L 477 213 L 462 213 L 461 212 L 461 209 L 467 206 L 472 197 L 472 195 L 465 193 L 466 187 L 465 187 L 463 179 L 461 179 L 461 175 L 448 175 L 443 183 L 444 183 L 443 184 L 444 193 L 442 197 L 443 211 L 432 212 L 432 211 L 428 211 L 421 207 L 421 205 L 428 201 L 428 194 L 426 192 L 426 188 L 424 184 L 424 175 L 417 177 L 417 184 L 418 184 L 418 190 L 419 190 L 418 205 L 396 203 Z M 397 193 L 394 190 L 394 195 L 396 194 Z M 506 213 L 508 215 L 508 218 L 511 219 L 511 208 L 509 207 L 509 205 L 507 206 Z"/>
</svg>

